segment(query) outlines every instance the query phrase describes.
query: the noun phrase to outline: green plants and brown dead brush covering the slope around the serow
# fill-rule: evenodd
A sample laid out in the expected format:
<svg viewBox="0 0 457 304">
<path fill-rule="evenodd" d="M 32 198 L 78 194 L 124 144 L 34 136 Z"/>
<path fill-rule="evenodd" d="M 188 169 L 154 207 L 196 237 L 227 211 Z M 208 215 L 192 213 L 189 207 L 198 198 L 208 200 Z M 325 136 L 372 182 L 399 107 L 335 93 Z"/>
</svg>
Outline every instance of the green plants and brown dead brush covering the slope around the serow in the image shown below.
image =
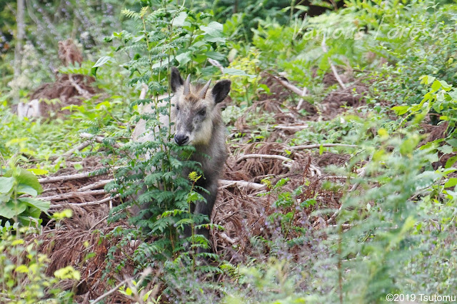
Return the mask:
<svg viewBox="0 0 457 304">
<path fill-rule="evenodd" d="M 0 301 L 455 296 L 456 5 L 329 2 L 310 17 L 301 2 L 247 2 L 227 15 L 141 1 L 103 49 L 61 41 L 56 76 L 16 92 L 41 100 L 39 118 L 18 117 L 14 83 L 2 88 Z M 176 158 L 192 148 L 157 119 L 172 66 L 232 82 L 209 225 L 188 208 L 199 166 Z M 130 141 L 140 118 L 159 126 L 154 141 Z M 177 178 L 183 166 L 195 173 Z M 131 212 L 151 199 L 149 218 Z M 186 225 L 209 240 L 184 238 Z"/>
</svg>

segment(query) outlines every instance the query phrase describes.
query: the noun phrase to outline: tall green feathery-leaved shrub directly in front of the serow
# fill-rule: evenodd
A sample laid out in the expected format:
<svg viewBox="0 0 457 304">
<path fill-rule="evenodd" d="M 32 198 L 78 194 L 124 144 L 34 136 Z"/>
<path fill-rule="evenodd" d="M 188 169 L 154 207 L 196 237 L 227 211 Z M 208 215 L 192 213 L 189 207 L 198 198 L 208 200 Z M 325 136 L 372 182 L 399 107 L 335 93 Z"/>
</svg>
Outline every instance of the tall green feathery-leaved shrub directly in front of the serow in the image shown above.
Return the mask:
<svg viewBox="0 0 457 304">
<path fill-rule="evenodd" d="M 169 67 L 179 65 L 187 73 L 212 76 L 219 69 L 205 66 L 206 60 L 224 61 L 224 56 L 217 49 L 225 39 L 221 34 L 221 25 L 210 21 L 209 14 L 197 14 L 184 7 L 171 5 L 169 1 L 160 1 L 151 8 L 145 6 L 139 12 L 125 9 L 123 14 L 136 21 L 141 30 L 138 33 L 114 33 L 107 40 L 118 45 L 116 51 L 119 53 L 134 53 L 122 64 L 130 74 L 128 84 L 134 88 L 146 84 L 149 96 L 152 96 L 134 100 L 130 106 L 136 114 L 138 112 L 135 109 L 139 105 L 151 107 L 153 113 L 134 115 L 131 121 L 136 123 L 144 119 L 146 128 L 154 130 L 154 140 L 144 143 L 129 141 L 121 148 L 115 148 L 113 143 L 116 141 L 131 138 L 129 129 L 112 131 L 95 124 L 90 129 L 91 132 L 109 135 L 102 145 L 107 151 L 107 155 L 104 154 L 105 163 L 118 167 L 114 183 L 106 186 L 106 191 L 115 189 L 119 192 L 122 202 L 112 209 L 111 220 L 129 216 L 131 223 L 136 225 L 131 230 L 114 230 L 114 234 L 122 236 L 123 240 L 117 248 L 111 248 L 109 256 L 131 239 L 146 240 L 129 257 L 134 261 L 136 270 L 151 266 L 166 273 L 164 296 L 179 293 L 179 297 L 184 297 L 180 289 L 185 288 L 189 298 L 199 298 L 201 286 L 189 286 L 189 281 L 199 280 L 199 275 L 206 273 L 208 276 L 221 273 L 219 268 L 201 263 L 204 259 L 218 258 L 217 255 L 199 250 L 208 248 L 209 240 L 195 233 L 188 238 L 181 237 L 185 227 L 212 227 L 202 224 L 208 218 L 191 213 L 191 204 L 203 199 L 195 186 L 201 177 L 201 168 L 198 163 L 187 161 L 194 153 L 194 147 L 177 146 L 170 141 L 174 135 L 171 126 L 163 125 L 159 116 L 169 116 L 171 113 L 171 92 L 167 86 Z M 120 59 L 121 54 L 114 60 L 123 60 Z M 194 172 L 189 177 L 182 176 L 184 168 Z M 131 206 L 139 206 L 140 211 L 129 214 Z M 123 210 L 126 212 L 120 212 Z M 120 270 L 121 267 L 122 263 L 114 265 L 108 261 L 109 269 Z M 185 287 L 182 286 L 182 278 L 188 278 Z"/>
</svg>

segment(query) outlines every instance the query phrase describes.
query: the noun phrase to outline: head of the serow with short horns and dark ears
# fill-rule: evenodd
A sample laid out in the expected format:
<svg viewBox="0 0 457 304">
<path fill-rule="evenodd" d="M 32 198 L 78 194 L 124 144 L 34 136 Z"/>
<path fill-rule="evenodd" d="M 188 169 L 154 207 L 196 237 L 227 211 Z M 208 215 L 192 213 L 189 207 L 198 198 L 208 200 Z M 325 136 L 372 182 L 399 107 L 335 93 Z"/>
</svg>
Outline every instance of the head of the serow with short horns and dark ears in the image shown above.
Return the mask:
<svg viewBox="0 0 457 304">
<path fill-rule="evenodd" d="M 174 141 L 178 146 L 209 143 L 214 123 L 220 119 L 216 104 L 226 98 L 231 85 L 229 80 L 224 79 L 210 90 L 211 80 L 202 88 L 192 86 L 190 82 L 190 75 L 184 81 L 178 69 L 171 69 L 170 86 L 174 92 L 172 102 L 176 128 Z"/>
</svg>

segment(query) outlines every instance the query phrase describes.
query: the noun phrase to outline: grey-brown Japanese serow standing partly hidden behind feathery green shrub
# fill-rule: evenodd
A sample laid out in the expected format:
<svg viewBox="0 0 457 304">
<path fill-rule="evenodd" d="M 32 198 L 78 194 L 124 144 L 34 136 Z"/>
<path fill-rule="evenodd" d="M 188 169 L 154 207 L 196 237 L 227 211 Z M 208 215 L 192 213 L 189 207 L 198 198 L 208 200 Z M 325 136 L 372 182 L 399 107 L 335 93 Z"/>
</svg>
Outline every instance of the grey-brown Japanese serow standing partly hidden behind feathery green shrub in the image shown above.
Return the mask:
<svg viewBox="0 0 457 304">
<path fill-rule="evenodd" d="M 206 203 L 198 201 L 192 206 L 193 213 L 201 213 L 211 218 L 211 212 L 216 201 L 219 178 L 224 169 L 227 158 L 226 126 L 221 118 L 219 103 L 224 101 L 230 91 L 231 82 L 221 80 L 213 88 L 209 88 L 211 80 L 205 86 L 199 88 L 190 83 L 190 75 L 186 81 L 181 78 L 178 69 L 172 68 L 170 86 L 174 96 L 171 98 L 171 121 L 174 123 L 174 141 L 179 146 L 191 145 L 195 147 L 191 161 L 201 163 L 204 176 L 196 186 L 206 189 L 200 194 L 206 198 Z M 152 112 L 150 106 L 144 106 L 139 110 L 141 113 Z M 169 126 L 168 116 L 160 118 L 161 123 Z M 146 136 L 141 134 L 146 133 Z M 152 139 L 152 132 L 146 131 L 146 122 L 139 121 L 134 134 L 134 141 L 148 141 Z M 209 156 L 209 157 L 207 157 Z M 183 176 L 188 176 L 190 169 L 184 171 Z M 209 239 L 209 230 L 196 231 Z M 190 234 L 190 229 L 185 231 Z"/>
</svg>

